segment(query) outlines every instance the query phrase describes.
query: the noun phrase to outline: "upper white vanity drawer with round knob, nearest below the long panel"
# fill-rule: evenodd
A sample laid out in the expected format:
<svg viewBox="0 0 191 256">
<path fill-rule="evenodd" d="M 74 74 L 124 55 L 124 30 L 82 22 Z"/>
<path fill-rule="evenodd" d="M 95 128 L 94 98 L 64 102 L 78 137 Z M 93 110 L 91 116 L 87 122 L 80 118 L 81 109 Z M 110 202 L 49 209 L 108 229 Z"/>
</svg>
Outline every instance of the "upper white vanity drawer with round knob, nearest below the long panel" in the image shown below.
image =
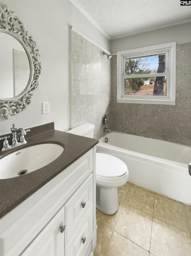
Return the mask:
<svg viewBox="0 0 191 256">
<path fill-rule="evenodd" d="M 65 204 L 66 244 L 93 203 L 93 174 L 76 190 Z M 84 204 L 84 205 L 83 205 Z"/>
</svg>

